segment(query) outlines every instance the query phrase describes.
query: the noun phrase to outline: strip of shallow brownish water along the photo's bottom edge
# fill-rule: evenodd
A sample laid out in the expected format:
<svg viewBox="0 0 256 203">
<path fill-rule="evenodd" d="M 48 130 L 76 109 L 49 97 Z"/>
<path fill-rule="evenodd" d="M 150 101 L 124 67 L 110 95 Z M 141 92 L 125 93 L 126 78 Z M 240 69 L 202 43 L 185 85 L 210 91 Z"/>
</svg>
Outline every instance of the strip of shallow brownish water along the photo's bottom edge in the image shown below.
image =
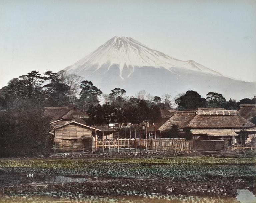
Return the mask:
<svg viewBox="0 0 256 203">
<path fill-rule="evenodd" d="M 236 198 L 220 198 L 216 197 L 198 197 L 198 196 L 175 196 L 159 194 L 141 196 L 85 196 L 80 194 L 66 193 L 62 196 L 54 195 L 2 195 L 0 197 L 0 203 L 238 203 Z M 247 202 L 241 202 L 247 203 Z"/>
</svg>

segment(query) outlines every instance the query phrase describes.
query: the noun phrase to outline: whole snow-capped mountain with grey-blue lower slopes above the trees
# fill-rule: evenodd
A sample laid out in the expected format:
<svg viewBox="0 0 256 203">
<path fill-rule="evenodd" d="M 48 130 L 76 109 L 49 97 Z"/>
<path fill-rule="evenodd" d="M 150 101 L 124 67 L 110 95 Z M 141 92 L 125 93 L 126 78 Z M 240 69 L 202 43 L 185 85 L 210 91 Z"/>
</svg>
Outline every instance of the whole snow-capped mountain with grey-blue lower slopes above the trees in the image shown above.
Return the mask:
<svg viewBox="0 0 256 203">
<path fill-rule="evenodd" d="M 130 37 L 113 37 L 64 70 L 93 82 L 104 93 L 115 87 L 134 95 L 145 89 L 154 96 L 187 90 L 222 93 L 226 99 L 252 97 L 256 84 L 231 79 L 193 60 L 182 61 L 150 49 Z"/>
</svg>

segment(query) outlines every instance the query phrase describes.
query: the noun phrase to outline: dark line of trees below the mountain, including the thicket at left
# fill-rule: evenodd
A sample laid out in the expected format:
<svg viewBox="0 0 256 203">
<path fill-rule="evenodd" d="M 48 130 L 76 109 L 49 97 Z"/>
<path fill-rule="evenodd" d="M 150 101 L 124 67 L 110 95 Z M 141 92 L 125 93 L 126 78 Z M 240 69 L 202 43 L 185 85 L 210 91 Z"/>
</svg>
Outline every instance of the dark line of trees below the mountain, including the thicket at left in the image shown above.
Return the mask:
<svg viewBox="0 0 256 203">
<path fill-rule="evenodd" d="M 190 90 L 179 95 L 175 104 L 178 110 L 198 107 L 233 110 L 239 104 L 256 104 L 256 98 L 226 101 L 220 93 L 209 92 L 203 98 Z M 118 123 L 118 133 L 122 134 L 128 126 L 127 137 L 140 137 L 143 121 L 155 124 L 161 118 L 160 109 L 172 109 L 172 102 L 169 94 L 152 96 L 145 90 L 132 97 L 119 87 L 103 94 L 91 81 L 68 75 L 66 71 L 46 71 L 42 75 L 32 71 L 13 78 L 0 89 L 0 109 L 5 110 L 0 112 L 0 156 L 47 155 L 51 135 L 49 120 L 43 116 L 46 106 L 77 106 L 90 116 L 90 125 Z M 176 136 L 176 131 L 174 128 L 170 133 Z"/>
</svg>

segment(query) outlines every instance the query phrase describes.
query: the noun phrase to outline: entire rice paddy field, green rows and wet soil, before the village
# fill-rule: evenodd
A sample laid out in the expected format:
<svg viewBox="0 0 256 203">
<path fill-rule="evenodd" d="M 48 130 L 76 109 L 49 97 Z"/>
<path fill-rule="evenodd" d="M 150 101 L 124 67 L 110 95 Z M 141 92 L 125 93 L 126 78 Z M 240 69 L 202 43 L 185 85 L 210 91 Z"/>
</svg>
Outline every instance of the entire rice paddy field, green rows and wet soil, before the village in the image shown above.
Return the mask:
<svg viewBox="0 0 256 203">
<path fill-rule="evenodd" d="M 83 197 L 154 194 L 232 198 L 237 189 L 255 194 L 255 166 L 254 156 L 0 159 L 0 191 L 4 195 L 62 196 L 71 192 L 71 196 Z"/>
</svg>

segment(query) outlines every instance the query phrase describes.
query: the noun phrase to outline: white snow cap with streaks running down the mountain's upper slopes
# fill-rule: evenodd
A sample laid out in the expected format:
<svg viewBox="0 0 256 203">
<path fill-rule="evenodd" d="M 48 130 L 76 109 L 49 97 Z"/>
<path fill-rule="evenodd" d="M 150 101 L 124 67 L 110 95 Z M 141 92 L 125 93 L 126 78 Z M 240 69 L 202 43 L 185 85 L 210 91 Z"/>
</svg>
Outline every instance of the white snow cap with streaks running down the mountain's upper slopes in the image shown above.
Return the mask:
<svg viewBox="0 0 256 203">
<path fill-rule="evenodd" d="M 155 67 L 165 68 L 175 73 L 176 68 L 188 69 L 198 72 L 209 73 L 221 76 L 220 73 L 213 71 L 205 66 L 193 61 L 182 61 L 165 55 L 162 52 L 148 48 L 140 42 L 130 37 L 113 37 L 97 50 L 82 58 L 75 64 L 65 68 L 72 74 L 83 74 L 88 68 L 94 66 L 95 71 L 107 64 L 110 69 L 113 65 L 119 66 L 119 76 L 129 77 L 135 68 Z M 128 74 L 123 73 L 124 67 L 131 68 Z M 90 71 L 90 74 L 93 72 Z"/>
</svg>

